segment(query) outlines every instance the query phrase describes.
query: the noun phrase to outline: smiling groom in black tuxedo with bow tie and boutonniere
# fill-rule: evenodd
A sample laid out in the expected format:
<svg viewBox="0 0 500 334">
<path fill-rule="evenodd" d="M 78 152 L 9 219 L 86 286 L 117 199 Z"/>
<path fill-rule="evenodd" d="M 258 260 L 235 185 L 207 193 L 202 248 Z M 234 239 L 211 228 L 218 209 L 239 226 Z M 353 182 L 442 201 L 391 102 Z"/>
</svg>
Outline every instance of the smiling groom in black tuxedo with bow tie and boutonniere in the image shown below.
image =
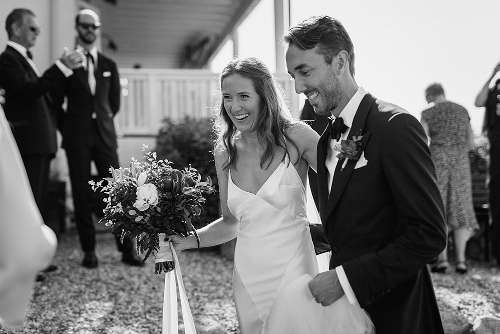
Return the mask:
<svg viewBox="0 0 500 334">
<path fill-rule="evenodd" d="M 324 306 L 343 294 L 359 302 L 377 334 L 443 333 L 426 263 L 444 249 L 446 227 L 422 127 L 356 84 L 352 42 L 338 20 L 305 19 L 284 41 L 295 91 L 335 119 L 317 147 L 330 270 L 309 282 L 312 295 Z M 346 139 L 350 154 L 337 145 Z"/>
</svg>

